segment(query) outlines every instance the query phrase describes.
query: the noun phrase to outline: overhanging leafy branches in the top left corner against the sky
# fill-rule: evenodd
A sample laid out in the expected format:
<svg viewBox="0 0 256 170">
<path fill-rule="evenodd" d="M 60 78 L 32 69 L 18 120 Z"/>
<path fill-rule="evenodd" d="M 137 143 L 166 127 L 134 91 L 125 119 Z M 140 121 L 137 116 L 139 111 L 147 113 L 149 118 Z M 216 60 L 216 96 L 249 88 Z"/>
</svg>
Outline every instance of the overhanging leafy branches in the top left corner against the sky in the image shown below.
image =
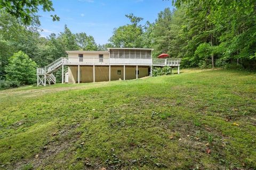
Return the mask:
<svg viewBox="0 0 256 170">
<path fill-rule="evenodd" d="M 33 1 L 16 1 L 16 0 L 4 0 L 0 1 L 0 9 L 11 14 L 17 19 L 20 19 L 22 23 L 29 25 L 36 19 L 36 13 L 38 12 L 38 6 L 42 6 L 42 10 L 54 11 L 52 7 L 52 1 L 50 0 L 33 0 Z M 59 21 L 60 18 L 57 15 L 51 15 L 53 21 Z"/>
</svg>

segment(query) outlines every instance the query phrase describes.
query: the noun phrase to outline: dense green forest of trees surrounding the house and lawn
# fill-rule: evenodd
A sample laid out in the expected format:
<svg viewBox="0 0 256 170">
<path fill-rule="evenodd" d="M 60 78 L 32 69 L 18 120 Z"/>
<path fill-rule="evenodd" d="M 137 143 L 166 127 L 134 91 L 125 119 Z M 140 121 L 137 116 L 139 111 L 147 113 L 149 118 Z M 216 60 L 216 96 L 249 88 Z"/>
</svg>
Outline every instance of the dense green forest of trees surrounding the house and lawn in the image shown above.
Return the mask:
<svg viewBox="0 0 256 170">
<path fill-rule="evenodd" d="M 256 69 L 254 0 L 170 1 L 174 10 L 165 8 L 155 22 L 146 24 L 141 24 L 143 18 L 126 14 L 130 22 L 115 28 L 108 43 L 102 45 L 86 32 L 71 32 L 68 25 L 58 35 L 41 37 L 37 6 L 54 11 L 49 0 L 35 1 L 41 4 L 30 4 L 30 11 L 24 7 L 26 4 L 11 6 L 7 2 L 0 3 L 0 89 L 34 84 L 36 67 L 67 56 L 66 50 L 154 48 L 153 57 L 167 53 L 182 58 L 182 67 Z M 21 5 L 21 11 L 10 10 L 15 5 Z M 58 22 L 60 18 L 53 15 L 52 19 Z M 58 78 L 60 73 L 56 74 Z"/>
</svg>

